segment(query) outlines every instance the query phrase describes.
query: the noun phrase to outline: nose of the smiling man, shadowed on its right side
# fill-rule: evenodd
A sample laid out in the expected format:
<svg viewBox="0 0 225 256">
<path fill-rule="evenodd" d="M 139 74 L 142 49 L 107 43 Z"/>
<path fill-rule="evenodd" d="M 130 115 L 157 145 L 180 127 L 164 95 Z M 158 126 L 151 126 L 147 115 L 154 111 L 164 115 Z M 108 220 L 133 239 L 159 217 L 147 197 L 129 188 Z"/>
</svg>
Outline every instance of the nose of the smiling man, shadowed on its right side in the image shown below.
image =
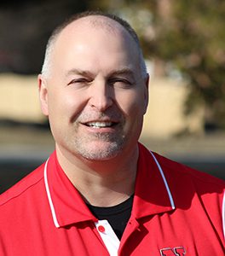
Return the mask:
<svg viewBox="0 0 225 256">
<path fill-rule="evenodd" d="M 105 81 L 96 81 L 89 86 L 89 105 L 103 112 L 113 105 L 113 88 Z"/>
</svg>

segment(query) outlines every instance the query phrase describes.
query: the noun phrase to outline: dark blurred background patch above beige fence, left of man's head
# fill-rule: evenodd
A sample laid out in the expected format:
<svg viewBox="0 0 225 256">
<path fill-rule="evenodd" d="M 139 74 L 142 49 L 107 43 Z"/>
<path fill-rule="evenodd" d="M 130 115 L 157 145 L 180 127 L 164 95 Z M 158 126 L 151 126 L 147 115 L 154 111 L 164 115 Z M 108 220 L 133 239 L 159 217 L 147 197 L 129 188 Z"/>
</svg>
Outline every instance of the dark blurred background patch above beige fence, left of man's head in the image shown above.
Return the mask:
<svg viewBox="0 0 225 256">
<path fill-rule="evenodd" d="M 50 33 L 88 1 L 1 1 L 0 73 L 39 73 Z"/>
</svg>

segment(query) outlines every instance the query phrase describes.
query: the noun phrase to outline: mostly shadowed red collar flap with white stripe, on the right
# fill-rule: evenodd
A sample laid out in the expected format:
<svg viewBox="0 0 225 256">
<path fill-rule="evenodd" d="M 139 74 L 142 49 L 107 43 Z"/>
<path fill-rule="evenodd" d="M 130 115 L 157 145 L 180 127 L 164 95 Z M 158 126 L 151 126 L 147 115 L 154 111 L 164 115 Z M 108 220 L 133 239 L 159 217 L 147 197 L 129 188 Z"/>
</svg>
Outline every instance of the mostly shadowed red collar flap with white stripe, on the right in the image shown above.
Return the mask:
<svg viewBox="0 0 225 256">
<path fill-rule="evenodd" d="M 134 218 L 175 209 L 169 184 L 155 155 L 139 144 L 138 171 L 132 209 Z"/>
</svg>

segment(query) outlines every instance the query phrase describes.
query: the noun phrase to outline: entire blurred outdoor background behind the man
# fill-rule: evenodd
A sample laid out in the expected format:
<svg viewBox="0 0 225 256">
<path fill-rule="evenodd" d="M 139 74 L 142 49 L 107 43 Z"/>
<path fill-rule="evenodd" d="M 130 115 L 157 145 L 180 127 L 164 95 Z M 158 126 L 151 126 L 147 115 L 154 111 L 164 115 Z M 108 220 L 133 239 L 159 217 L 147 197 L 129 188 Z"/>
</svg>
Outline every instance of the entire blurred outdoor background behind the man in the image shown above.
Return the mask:
<svg viewBox="0 0 225 256">
<path fill-rule="evenodd" d="M 88 9 L 121 16 L 140 36 L 151 75 L 141 142 L 224 178 L 224 1 L 8 0 L 0 3 L 0 192 L 54 150 L 37 75 L 55 26 Z"/>
</svg>

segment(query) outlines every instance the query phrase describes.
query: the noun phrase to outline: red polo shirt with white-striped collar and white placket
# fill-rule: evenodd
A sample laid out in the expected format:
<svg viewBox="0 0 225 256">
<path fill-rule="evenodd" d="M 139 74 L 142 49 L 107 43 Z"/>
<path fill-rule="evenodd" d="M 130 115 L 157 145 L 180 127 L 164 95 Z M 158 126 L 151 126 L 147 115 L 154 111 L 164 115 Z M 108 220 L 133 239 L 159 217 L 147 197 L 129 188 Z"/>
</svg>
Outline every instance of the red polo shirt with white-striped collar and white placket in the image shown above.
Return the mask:
<svg viewBox="0 0 225 256">
<path fill-rule="evenodd" d="M 56 158 L 0 197 L 0 255 L 224 255 L 225 183 L 139 145 L 130 221 L 118 241 Z"/>
</svg>

